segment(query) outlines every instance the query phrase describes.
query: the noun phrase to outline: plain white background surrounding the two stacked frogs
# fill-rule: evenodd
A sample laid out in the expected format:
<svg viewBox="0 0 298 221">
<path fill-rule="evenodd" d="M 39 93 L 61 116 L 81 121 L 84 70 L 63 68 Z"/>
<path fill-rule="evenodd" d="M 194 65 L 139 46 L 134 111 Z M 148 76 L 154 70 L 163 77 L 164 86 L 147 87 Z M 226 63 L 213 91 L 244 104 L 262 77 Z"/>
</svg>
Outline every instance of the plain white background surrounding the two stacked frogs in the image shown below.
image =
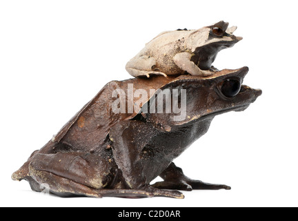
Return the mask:
<svg viewBox="0 0 298 221">
<path fill-rule="evenodd" d="M 0 1 L 1 206 L 298 206 L 295 1 Z M 159 32 L 217 21 L 244 37 L 219 69 L 248 66 L 263 95 L 217 116 L 175 163 L 231 191 L 170 198 L 58 198 L 10 176 Z"/>
</svg>

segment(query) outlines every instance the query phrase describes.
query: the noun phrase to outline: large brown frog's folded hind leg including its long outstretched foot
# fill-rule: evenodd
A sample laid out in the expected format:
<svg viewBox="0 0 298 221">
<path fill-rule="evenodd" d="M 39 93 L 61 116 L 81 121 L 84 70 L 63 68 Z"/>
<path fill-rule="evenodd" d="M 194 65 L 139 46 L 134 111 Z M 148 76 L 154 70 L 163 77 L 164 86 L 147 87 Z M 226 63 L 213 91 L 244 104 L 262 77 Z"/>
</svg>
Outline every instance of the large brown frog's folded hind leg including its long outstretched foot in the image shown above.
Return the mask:
<svg viewBox="0 0 298 221">
<path fill-rule="evenodd" d="M 28 166 L 28 181 L 34 191 L 54 193 L 61 197 L 183 198 L 179 191 L 156 189 L 150 185 L 138 189 L 120 189 L 126 185 L 120 185 L 119 189 L 106 189 L 115 181 L 115 174 L 110 170 L 115 167 L 114 163 L 108 161 L 108 164 L 112 164 L 109 166 L 98 155 L 92 154 L 37 153 Z M 102 177 L 101 173 L 106 171 L 110 171 L 110 175 Z"/>
</svg>

